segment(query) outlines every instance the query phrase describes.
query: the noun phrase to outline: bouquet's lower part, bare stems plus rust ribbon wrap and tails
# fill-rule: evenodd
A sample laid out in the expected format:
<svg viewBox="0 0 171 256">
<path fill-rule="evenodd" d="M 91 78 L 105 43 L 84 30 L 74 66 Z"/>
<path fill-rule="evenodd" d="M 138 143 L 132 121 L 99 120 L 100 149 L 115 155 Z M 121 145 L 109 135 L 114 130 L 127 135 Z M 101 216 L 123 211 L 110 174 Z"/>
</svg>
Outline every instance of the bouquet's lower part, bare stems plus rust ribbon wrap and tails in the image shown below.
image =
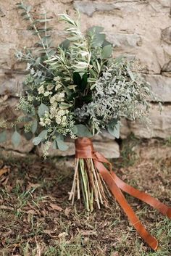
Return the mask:
<svg viewBox="0 0 171 256">
<path fill-rule="evenodd" d="M 107 169 L 104 164 L 108 165 L 109 169 Z M 125 199 L 122 191 L 146 202 L 159 210 L 163 215 L 171 218 L 170 207 L 167 207 L 167 205 L 159 202 L 159 200 L 151 197 L 149 194 L 134 189 L 118 178 L 112 171 L 111 163 L 102 154 L 93 149 L 91 139 L 86 137 L 76 139 L 75 174 L 69 198 L 72 200 L 72 204 L 75 202 L 75 197 L 80 199 L 80 193 L 82 193 L 86 209 L 92 211 L 95 203 L 99 208 L 101 205 L 109 206 L 108 195 L 112 194 L 143 240 L 146 241 L 152 249 L 157 250 L 157 239 L 146 231 L 146 228 Z"/>
</svg>

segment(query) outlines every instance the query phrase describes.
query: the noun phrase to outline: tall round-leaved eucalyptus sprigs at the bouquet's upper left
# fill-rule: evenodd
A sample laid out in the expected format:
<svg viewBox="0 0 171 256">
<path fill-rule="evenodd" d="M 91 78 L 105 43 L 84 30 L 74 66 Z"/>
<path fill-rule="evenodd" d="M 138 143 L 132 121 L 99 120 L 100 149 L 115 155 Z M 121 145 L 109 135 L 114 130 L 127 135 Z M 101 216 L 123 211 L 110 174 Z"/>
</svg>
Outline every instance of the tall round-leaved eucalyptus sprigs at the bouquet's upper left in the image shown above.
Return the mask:
<svg viewBox="0 0 171 256">
<path fill-rule="evenodd" d="M 38 83 L 46 78 L 51 78 L 51 70 L 46 67 L 45 60 L 49 59 L 56 51 L 51 46 L 51 35 L 49 31 L 51 28 L 48 22 L 51 20 L 47 17 L 46 11 L 41 13 L 41 18 L 36 19 L 32 12 L 32 7 L 25 4 L 23 1 L 17 4 L 17 9 L 20 9 L 20 15 L 23 20 L 27 20 L 28 30 L 32 31 L 33 35 L 38 38 L 38 41 L 32 48 L 25 48 L 23 51 L 17 51 L 16 56 L 19 61 L 27 62 L 27 69 L 30 75 L 38 78 Z M 29 80 L 30 76 L 28 76 Z M 31 81 L 32 82 L 32 81 Z"/>
</svg>

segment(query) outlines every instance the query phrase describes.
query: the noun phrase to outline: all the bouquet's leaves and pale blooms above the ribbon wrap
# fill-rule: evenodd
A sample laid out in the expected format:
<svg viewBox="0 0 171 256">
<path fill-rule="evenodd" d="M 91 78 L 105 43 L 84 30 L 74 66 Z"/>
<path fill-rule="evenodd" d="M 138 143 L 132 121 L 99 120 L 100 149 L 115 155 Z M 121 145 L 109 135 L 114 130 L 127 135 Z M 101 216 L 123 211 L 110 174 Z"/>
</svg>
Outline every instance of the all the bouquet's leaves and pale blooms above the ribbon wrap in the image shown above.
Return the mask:
<svg viewBox="0 0 171 256">
<path fill-rule="evenodd" d="M 65 150 L 66 136 L 91 137 L 101 128 L 119 138 L 122 117 L 135 120 L 148 114 L 149 86 L 131 71 L 128 61 L 112 58 L 104 28 L 93 26 L 83 33 L 79 20 L 59 15 L 59 22 L 66 23 L 66 38 L 54 47 L 46 12 L 35 18 L 23 1 L 17 8 L 38 39 L 36 50 L 17 52 L 17 59 L 27 62 L 28 71 L 25 95 L 17 107 L 25 117 L 17 122 L 25 123 L 27 139 L 36 135 L 33 144 L 45 144 L 45 152 L 49 146 Z M 20 141 L 17 131 L 12 137 L 15 145 Z"/>
</svg>

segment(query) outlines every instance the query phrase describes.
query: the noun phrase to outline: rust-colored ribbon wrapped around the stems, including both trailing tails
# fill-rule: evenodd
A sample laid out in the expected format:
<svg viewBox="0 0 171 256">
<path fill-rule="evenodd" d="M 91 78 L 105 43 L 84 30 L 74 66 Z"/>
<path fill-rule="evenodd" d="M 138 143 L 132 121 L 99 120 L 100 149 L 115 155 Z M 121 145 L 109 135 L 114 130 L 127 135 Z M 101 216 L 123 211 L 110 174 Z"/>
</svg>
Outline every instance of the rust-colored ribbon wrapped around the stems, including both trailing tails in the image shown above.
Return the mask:
<svg viewBox="0 0 171 256">
<path fill-rule="evenodd" d="M 159 212 L 162 212 L 163 215 L 167 215 L 168 218 L 171 218 L 171 208 L 167 207 L 167 205 L 164 205 L 162 202 L 159 202 L 159 200 L 155 199 L 154 197 L 151 197 L 149 194 L 146 194 L 142 191 L 138 191 L 138 189 L 134 189 L 132 186 L 128 185 L 120 178 L 118 178 L 116 174 L 112 171 L 111 163 L 102 154 L 94 151 L 91 139 L 78 138 L 75 140 L 75 157 L 83 159 L 93 159 L 96 169 L 99 171 L 102 178 L 107 183 L 107 186 L 109 187 L 111 193 L 113 194 L 117 202 L 122 207 L 122 210 L 124 210 L 125 214 L 128 216 L 130 223 L 133 224 L 133 226 L 144 239 L 144 241 L 146 241 L 146 243 L 149 244 L 149 246 L 152 249 L 157 250 L 157 239 L 155 239 L 154 236 L 151 236 L 151 234 L 149 234 L 149 232 L 146 231 L 146 228 L 135 215 L 135 212 L 125 199 L 124 195 L 122 194 L 122 191 L 125 191 L 126 193 L 140 199 L 143 202 L 146 202 L 155 209 L 159 210 Z M 109 165 L 109 170 L 105 168 L 103 163 Z"/>
</svg>

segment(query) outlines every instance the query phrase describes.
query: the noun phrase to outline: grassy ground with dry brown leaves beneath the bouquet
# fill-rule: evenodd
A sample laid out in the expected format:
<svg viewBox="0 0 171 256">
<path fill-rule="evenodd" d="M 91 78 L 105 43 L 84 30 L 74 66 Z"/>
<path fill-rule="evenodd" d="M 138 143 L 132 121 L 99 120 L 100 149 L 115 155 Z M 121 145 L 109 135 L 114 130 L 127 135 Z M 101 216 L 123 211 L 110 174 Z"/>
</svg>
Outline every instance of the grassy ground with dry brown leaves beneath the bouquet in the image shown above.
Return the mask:
<svg viewBox="0 0 171 256">
<path fill-rule="evenodd" d="M 133 144 L 113 160 L 118 176 L 167 205 L 171 198 L 171 158 L 144 160 Z M 129 146 L 128 146 L 129 145 Z M 153 252 L 115 202 L 88 214 L 68 202 L 72 158 L 1 157 L 0 255 L 170 256 L 171 221 L 138 199 L 126 196 L 148 231 L 159 240 Z"/>
</svg>

